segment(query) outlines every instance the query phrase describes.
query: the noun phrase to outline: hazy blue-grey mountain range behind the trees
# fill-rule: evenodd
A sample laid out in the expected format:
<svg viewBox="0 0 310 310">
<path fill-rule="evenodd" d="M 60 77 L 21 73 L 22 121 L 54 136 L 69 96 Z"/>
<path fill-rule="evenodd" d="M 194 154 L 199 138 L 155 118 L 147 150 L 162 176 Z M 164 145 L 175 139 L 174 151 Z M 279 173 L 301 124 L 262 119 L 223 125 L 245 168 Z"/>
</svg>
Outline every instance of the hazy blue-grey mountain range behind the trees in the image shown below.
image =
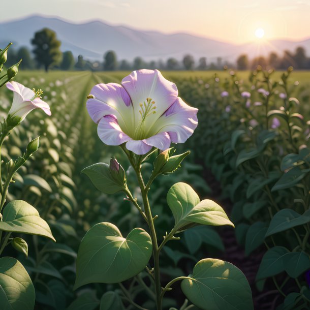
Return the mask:
<svg viewBox="0 0 310 310">
<path fill-rule="evenodd" d="M 90 21 L 76 24 L 60 18 L 44 16 L 30 16 L 27 18 L 0 23 L 0 45 L 5 46 L 13 41 L 14 47 L 27 46 L 32 48 L 30 40 L 34 33 L 44 27 L 51 28 L 61 40 L 61 50 L 71 50 L 75 56 L 82 54 L 84 58 L 101 60 L 107 50 L 114 50 L 118 59 L 132 60 L 141 56 L 146 60 L 167 59 L 175 57 L 181 59 L 190 53 L 195 58 L 205 56 L 208 63 L 216 57 L 234 61 L 241 53 L 248 53 L 250 57 L 260 53 L 267 54 L 283 50 L 294 50 L 303 46 L 310 52 L 310 39 L 293 42 L 273 40 L 268 45 L 259 47 L 258 43 L 234 45 L 205 37 L 190 34 L 163 34 L 156 31 L 137 30 L 127 26 L 113 26 L 103 21 Z"/>
</svg>

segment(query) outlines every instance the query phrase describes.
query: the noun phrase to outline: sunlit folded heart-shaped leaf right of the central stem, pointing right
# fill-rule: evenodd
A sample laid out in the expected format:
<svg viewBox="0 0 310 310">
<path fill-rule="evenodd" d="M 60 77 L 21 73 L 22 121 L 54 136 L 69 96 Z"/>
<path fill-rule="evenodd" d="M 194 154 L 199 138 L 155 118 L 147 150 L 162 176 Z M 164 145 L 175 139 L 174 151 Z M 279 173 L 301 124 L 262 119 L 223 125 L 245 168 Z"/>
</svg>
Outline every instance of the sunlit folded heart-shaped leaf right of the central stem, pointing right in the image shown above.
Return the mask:
<svg viewBox="0 0 310 310">
<path fill-rule="evenodd" d="M 198 224 L 234 226 L 221 206 L 209 199 L 200 201 L 195 191 L 186 183 L 172 185 L 167 194 L 167 202 L 174 216 L 176 230 Z"/>
</svg>

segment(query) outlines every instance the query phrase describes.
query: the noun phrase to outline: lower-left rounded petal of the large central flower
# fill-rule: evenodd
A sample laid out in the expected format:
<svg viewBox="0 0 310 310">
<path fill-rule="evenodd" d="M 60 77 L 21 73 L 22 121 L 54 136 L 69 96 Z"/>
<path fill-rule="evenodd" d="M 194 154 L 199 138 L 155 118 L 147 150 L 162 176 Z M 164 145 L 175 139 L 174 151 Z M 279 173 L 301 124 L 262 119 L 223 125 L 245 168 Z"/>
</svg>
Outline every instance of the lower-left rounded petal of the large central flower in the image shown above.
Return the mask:
<svg viewBox="0 0 310 310">
<path fill-rule="evenodd" d="M 131 138 L 120 129 L 114 115 L 102 117 L 98 124 L 98 136 L 107 145 L 120 145 Z"/>
</svg>

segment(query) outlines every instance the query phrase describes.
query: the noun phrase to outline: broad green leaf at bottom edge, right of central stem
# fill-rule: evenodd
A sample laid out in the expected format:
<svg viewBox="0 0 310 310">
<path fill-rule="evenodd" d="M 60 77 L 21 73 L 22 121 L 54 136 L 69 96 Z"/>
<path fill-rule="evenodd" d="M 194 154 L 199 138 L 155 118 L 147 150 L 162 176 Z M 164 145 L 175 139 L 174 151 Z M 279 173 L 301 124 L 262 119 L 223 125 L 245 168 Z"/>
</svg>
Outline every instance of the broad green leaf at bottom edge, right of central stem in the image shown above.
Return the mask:
<svg viewBox="0 0 310 310">
<path fill-rule="evenodd" d="M 253 309 L 249 283 L 241 270 L 228 262 L 210 258 L 199 261 L 181 288 L 202 310 Z"/>
</svg>

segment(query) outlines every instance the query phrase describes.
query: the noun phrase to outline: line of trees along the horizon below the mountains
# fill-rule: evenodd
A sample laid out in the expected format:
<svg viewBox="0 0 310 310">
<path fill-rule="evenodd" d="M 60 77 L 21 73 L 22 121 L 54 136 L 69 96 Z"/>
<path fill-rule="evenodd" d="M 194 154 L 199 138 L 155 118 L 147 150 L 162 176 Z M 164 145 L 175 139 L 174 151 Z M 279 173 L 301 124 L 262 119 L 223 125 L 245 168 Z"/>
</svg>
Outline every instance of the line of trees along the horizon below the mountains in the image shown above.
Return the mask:
<svg viewBox="0 0 310 310">
<path fill-rule="evenodd" d="M 23 59 L 20 69 L 34 70 L 43 67 L 45 71 L 50 69 L 65 71 L 129 71 L 142 68 L 160 70 L 222 70 L 224 67 L 236 67 L 238 70 L 253 70 L 259 65 L 263 69 L 285 70 L 290 66 L 300 70 L 310 69 L 310 58 L 307 57 L 303 47 L 297 47 L 295 52 L 285 50 L 282 56 L 271 52 L 267 57 L 258 56 L 250 59 L 248 55 L 241 54 L 235 64 L 223 61 L 221 57 L 208 64 L 207 57 L 200 57 L 197 63 L 191 54 L 184 55 L 182 60 L 170 57 L 166 61 L 162 59 L 145 61 L 142 57 L 137 56 L 132 62 L 126 59 L 118 61 L 116 53 L 112 50 L 104 54 L 103 61 L 90 61 L 84 59 L 83 55 L 78 55 L 75 58 L 72 51 L 61 52 L 61 42 L 57 39 L 56 33 L 49 28 L 43 28 L 36 32 L 31 43 L 33 45 L 32 51 L 27 47 L 20 47 L 16 51 L 11 49 L 7 65 L 12 66 L 19 59 Z"/>
</svg>

